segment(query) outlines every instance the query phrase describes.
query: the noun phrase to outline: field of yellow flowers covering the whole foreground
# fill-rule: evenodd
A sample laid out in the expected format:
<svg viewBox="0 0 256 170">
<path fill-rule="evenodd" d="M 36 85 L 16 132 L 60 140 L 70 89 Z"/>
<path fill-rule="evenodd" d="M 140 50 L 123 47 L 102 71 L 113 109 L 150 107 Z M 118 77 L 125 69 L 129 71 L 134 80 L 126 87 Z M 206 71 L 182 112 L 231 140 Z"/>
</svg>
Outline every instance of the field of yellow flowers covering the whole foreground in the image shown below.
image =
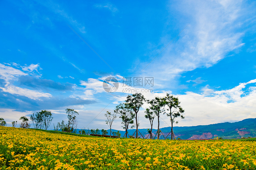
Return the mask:
<svg viewBox="0 0 256 170">
<path fill-rule="evenodd" d="M 0 169 L 256 169 L 256 142 L 79 137 L 0 126 Z"/>
</svg>

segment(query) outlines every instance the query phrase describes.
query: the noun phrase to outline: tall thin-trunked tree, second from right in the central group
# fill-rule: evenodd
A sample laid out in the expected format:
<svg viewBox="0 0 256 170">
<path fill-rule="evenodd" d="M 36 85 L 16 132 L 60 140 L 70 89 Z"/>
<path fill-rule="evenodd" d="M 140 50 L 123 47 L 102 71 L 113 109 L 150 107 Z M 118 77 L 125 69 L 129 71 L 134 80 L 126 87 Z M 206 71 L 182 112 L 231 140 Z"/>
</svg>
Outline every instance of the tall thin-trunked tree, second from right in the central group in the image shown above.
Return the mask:
<svg viewBox="0 0 256 170">
<path fill-rule="evenodd" d="M 152 100 L 147 100 L 147 102 L 151 105 L 150 109 L 152 109 L 153 112 L 157 115 L 157 121 L 158 121 L 157 139 L 159 139 L 160 138 L 160 129 L 159 129 L 160 121 L 159 121 L 159 117 L 160 117 L 160 113 L 162 113 L 164 111 L 163 107 L 166 104 L 165 98 L 155 97 Z"/>
</svg>

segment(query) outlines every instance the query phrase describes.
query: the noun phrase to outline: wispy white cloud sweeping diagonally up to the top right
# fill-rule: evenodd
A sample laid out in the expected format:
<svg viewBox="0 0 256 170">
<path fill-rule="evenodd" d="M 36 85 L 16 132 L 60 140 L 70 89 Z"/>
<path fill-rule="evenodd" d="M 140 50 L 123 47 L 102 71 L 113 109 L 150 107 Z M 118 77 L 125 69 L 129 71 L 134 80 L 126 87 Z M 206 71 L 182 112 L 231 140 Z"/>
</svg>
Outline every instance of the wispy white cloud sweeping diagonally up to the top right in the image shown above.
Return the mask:
<svg viewBox="0 0 256 170">
<path fill-rule="evenodd" d="M 173 2 L 171 2 L 173 3 Z M 177 33 L 164 36 L 161 47 L 151 52 L 153 59 L 188 23 L 188 27 L 174 40 L 149 66 L 143 75 L 158 77 L 160 84 L 169 84 L 177 75 L 196 68 L 210 67 L 218 63 L 227 54 L 244 45 L 245 34 L 241 29 L 244 20 L 243 2 L 233 1 L 182 1 L 177 5 L 184 20 Z M 170 9 L 173 10 L 173 9 Z M 239 23 L 239 24 L 237 24 Z M 171 23 L 166 23 L 168 25 Z M 238 31 L 239 30 L 239 31 Z M 150 61 L 140 61 L 143 69 Z M 155 69 L 157 68 L 157 69 Z M 152 72 L 152 69 L 156 70 Z M 166 81 L 166 77 L 168 77 Z M 188 82 L 191 80 L 188 80 Z M 174 84 L 174 83 L 172 83 Z"/>
</svg>

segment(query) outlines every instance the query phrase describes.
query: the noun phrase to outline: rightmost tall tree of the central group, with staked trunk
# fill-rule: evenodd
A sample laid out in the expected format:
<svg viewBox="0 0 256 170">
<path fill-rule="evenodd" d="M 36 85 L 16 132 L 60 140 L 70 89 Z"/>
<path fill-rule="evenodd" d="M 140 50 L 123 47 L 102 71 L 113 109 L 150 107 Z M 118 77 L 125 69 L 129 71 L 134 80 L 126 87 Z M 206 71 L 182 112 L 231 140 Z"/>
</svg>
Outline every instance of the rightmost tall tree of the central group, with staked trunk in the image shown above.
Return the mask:
<svg viewBox="0 0 256 170">
<path fill-rule="evenodd" d="M 174 133 L 173 133 L 174 120 L 175 120 L 175 118 L 177 118 L 179 116 L 182 119 L 184 119 L 185 117 L 182 115 L 182 113 L 184 113 L 185 111 L 179 105 L 180 101 L 179 101 L 178 97 L 174 97 L 173 95 L 170 95 L 169 93 L 166 93 L 165 100 L 166 100 L 166 105 L 168 106 L 167 110 L 170 111 L 166 115 L 170 117 L 170 121 L 171 121 L 171 139 L 173 139 L 173 137 L 174 137 Z M 176 121 L 176 124 L 178 124 L 178 121 Z"/>
</svg>

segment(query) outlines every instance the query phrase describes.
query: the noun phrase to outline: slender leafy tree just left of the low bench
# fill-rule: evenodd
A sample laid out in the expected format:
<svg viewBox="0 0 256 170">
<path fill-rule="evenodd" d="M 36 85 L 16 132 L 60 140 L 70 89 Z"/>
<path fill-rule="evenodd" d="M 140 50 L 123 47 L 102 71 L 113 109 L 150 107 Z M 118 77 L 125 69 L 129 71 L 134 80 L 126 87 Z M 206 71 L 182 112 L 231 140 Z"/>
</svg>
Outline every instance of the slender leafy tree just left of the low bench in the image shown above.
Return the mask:
<svg viewBox="0 0 256 170">
<path fill-rule="evenodd" d="M 66 114 L 68 114 L 68 124 L 67 124 L 68 132 L 76 133 L 76 129 L 77 129 L 76 115 L 79 115 L 79 113 L 74 109 L 68 109 L 68 108 L 65 109 L 65 111 L 66 111 Z"/>
</svg>

